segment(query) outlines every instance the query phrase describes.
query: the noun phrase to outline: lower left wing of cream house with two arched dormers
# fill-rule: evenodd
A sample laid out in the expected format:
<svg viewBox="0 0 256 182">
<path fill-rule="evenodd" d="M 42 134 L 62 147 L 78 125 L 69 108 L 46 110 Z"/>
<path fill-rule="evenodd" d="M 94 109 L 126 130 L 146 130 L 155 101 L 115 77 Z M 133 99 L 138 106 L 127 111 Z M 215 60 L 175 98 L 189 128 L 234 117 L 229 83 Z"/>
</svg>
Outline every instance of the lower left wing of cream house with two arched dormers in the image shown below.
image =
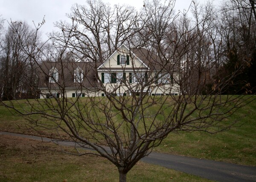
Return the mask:
<svg viewBox="0 0 256 182">
<path fill-rule="evenodd" d="M 90 62 L 43 62 L 39 74 L 40 98 L 85 97 L 95 94 L 97 68 Z"/>
</svg>

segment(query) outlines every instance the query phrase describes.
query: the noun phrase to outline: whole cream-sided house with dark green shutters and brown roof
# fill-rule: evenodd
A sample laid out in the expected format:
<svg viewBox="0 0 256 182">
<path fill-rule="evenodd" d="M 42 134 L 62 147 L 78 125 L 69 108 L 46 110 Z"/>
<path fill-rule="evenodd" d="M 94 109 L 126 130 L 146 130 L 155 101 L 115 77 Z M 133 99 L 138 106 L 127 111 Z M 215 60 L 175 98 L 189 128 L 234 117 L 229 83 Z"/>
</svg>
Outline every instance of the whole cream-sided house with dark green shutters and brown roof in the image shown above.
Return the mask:
<svg viewBox="0 0 256 182">
<path fill-rule="evenodd" d="M 145 48 L 122 45 L 103 63 L 44 62 L 41 98 L 178 95 L 177 68 Z"/>
</svg>

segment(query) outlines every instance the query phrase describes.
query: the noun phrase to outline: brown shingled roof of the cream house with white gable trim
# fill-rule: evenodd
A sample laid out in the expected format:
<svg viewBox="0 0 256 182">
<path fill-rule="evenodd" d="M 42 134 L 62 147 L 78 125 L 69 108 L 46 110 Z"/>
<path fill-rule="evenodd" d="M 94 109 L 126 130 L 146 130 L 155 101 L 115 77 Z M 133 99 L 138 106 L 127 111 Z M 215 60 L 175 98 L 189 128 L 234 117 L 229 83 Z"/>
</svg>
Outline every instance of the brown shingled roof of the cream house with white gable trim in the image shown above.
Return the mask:
<svg viewBox="0 0 256 182">
<path fill-rule="evenodd" d="M 127 46 L 124 46 L 127 50 Z M 111 55 L 116 54 L 118 50 L 114 51 Z M 160 59 L 159 56 L 148 51 L 145 48 L 131 48 L 130 54 L 133 55 L 136 60 L 138 60 L 141 64 L 145 65 L 143 70 L 151 70 L 151 71 L 175 71 L 177 67 L 171 63 L 164 63 L 163 60 Z M 108 58 L 108 60 L 111 58 Z M 96 79 L 97 71 L 103 71 L 105 69 L 109 69 L 111 71 L 134 71 L 132 67 L 111 67 L 105 68 L 104 64 L 108 61 L 106 60 L 104 63 L 95 63 L 95 62 L 43 62 L 41 64 L 41 70 L 39 74 L 39 88 L 97 88 L 98 80 Z M 55 68 L 58 70 L 58 82 L 49 83 L 49 71 Z M 82 83 L 74 83 L 74 71 L 76 68 L 81 68 L 83 70 L 84 79 Z"/>
</svg>

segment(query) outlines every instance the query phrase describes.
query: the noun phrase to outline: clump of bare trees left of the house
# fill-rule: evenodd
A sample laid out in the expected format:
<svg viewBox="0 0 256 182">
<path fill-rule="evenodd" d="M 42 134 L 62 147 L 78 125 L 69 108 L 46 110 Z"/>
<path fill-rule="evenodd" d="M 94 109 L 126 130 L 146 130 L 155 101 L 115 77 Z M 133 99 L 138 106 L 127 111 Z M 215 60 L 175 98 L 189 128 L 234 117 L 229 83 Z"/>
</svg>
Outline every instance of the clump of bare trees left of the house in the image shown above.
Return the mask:
<svg viewBox="0 0 256 182">
<path fill-rule="evenodd" d="M 11 22 L 1 44 L 2 100 L 37 97 L 37 65 L 29 56 L 40 45 L 39 32 L 26 22 Z"/>
</svg>

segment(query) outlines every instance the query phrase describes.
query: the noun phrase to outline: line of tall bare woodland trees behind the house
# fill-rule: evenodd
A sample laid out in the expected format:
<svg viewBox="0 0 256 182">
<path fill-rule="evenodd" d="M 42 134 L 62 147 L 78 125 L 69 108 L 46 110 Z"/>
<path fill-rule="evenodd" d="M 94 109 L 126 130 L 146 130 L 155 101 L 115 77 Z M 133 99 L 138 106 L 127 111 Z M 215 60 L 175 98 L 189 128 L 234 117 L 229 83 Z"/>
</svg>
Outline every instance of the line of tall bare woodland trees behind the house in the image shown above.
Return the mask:
<svg viewBox="0 0 256 182">
<path fill-rule="evenodd" d="M 55 23 L 60 31 L 52 32 L 47 44 L 26 22 L 10 22 L 5 30 L 2 17 L 1 99 L 38 97 L 37 66 L 31 57 L 57 61 L 56 55 L 64 51 L 66 60 L 103 62 L 122 43 L 147 48 L 177 65 L 184 80 L 180 86 L 186 88 L 183 94 L 206 94 L 230 74 L 223 94 L 255 93 L 250 89 L 256 84 L 255 2 L 229 0 L 215 7 L 192 1 L 189 12 L 175 12 L 174 5 L 174 1 L 145 1 L 137 10 L 102 1 L 75 4 L 67 14 L 70 22 Z M 201 85 L 195 83 L 198 77 Z"/>
</svg>

